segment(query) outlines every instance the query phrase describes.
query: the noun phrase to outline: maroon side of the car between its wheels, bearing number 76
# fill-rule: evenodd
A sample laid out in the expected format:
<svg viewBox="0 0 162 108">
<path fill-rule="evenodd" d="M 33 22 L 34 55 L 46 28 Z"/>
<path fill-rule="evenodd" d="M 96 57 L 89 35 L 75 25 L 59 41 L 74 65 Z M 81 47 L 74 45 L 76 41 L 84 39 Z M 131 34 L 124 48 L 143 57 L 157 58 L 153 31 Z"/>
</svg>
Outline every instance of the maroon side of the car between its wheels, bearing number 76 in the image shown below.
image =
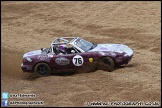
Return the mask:
<svg viewBox="0 0 162 108">
<path fill-rule="evenodd" d="M 53 71 L 79 70 L 93 67 L 95 55 L 91 52 L 55 55 L 50 60 Z"/>
</svg>

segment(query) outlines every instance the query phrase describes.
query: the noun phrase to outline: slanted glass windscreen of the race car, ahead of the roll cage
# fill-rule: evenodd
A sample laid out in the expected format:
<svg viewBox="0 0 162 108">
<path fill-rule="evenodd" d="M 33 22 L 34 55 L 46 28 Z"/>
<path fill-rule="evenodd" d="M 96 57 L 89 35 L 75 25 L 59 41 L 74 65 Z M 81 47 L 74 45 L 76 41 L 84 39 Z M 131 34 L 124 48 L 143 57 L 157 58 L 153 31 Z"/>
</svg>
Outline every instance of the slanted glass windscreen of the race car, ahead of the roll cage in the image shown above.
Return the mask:
<svg viewBox="0 0 162 108">
<path fill-rule="evenodd" d="M 75 45 L 77 45 L 79 48 L 81 48 L 84 51 L 89 51 L 93 47 L 92 43 L 90 43 L 84 39 L 76 40 Z"/>
</svg>

